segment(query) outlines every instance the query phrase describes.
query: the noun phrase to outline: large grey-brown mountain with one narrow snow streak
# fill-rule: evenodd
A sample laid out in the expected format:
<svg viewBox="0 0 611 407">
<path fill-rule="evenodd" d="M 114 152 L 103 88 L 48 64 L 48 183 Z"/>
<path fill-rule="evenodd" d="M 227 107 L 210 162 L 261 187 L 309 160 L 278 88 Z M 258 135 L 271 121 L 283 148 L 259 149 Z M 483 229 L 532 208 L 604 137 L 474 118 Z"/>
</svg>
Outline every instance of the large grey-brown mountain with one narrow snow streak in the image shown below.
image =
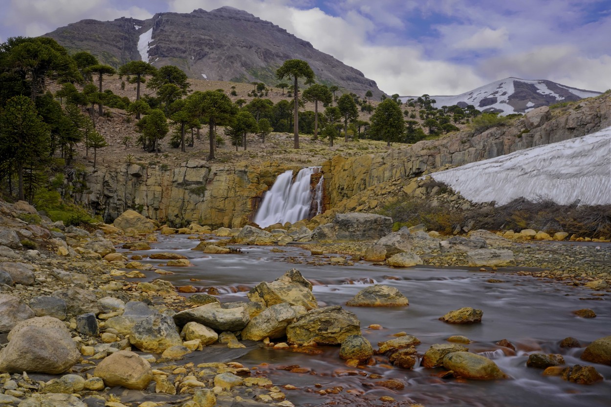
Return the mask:
<svg viewBox="0 0 611 407">
<path fill-rule="evenodd" d="M 276 69 L 287 59 L 307 61 L 316 80 L 379 98 L 375 81 L 285 29 L 233 7 L 207 12 L 157 13 L 148 20 L 81 20 L 44 35 L 70 52 L 89 51 L 119 67 L 145 60 L 175 65 L 192 78 L 276 85 Z"/>
</svg>

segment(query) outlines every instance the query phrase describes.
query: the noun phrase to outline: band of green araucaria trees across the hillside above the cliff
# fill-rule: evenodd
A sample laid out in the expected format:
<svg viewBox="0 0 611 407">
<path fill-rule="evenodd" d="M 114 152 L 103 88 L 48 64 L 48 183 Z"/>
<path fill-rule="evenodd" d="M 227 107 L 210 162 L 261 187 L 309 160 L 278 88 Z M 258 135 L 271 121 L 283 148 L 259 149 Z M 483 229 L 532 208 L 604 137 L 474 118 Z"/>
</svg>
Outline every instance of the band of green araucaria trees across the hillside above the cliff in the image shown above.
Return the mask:
<svg viewBox="0 0 611 407">
<path fill-rule="evenodd" d="M 135 99 L 104 89 L 104 79 L 114 75 L 120 77 L 122 88 L 134 85 Z M 406 110 L 398 95 L 382 96 L 373 107 L 371 91 L 363 98 L 355 93 L 337 95 L 337 86 L 316 83 L 312 68 L 298 59 L 285 61 L 276 76 L 288 82 L 277 87 L 283 95 L 287 90 L 291 102 L 265 98 L 269 89 L 260 82 L 252 82 L 250 101 L 232 101 L 230 96 L 238 96 L 235 87 L 230 96 L 222 89 L 192 92 L 186 74 L 172 65 L 156 68 L 131 61 L 115 69 L 89 52 L 69 55 L 51 38 L 9 38 L 0 44 L 0 188 L 32 201 L 38 189 L 48 187 L 49 179 L 64 174 L 74 178 L 78 145 L 85 146 L 86 155 L 92 150 L 95 169 L 97 150 L 108 146 L 95 127 L 97 117 L 111 115 L 104 107 L 123 109 L 135 120 L 135 142 L 148 152 L 159 151 L 159 140 L 168 134 L 170 147 L 186 151 L 205 129 L 209 159 L 223 142 L 219 126 L 236 149 L 247 148 L 248 134 L 258 135 L 264 143 L 271 132 L 291 130 L 295 148 L 299 134 L 312 134 L 332 146 L 342 132 L 345 142 L 373 139 L 390 145 L 452 131 L 451 121 L 464 123 L 479 113 L 472 106 L 435 109 L 428 95 L 409 101 Z M 51 93 L 51 84 L 59 90 Z M 314 110 L 303 110 L 305 102 L 313 103 Z M 360 120 L 359 110 L 372 113 L 370 121 Z M 416 110 L 428 134 L 415 120 Z M 127 146 L 130 141 L 124 137 L 122 143 Z"/>
</svg>

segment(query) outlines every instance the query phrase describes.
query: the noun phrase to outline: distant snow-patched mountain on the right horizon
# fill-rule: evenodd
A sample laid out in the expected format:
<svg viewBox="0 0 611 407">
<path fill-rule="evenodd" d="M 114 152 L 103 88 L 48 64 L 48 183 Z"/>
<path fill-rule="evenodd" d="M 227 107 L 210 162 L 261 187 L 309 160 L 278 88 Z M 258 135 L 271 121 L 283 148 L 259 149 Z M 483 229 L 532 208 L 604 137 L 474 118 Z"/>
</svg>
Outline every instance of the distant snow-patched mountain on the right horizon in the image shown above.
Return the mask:
<svg viewBox="0 0 611 407">
<path fill-rule="evenodd" d="M 572 88 L 544 79 L 530 81 L 517 77 L 508 77 L 494 81 L 470 92 L 456 96 L 430 96 L 435 99 L 436 107 L 457 104 L 467 107 L 472 104 L 482 112 L 499 112 L 501 115 L 525 113 L 536 107 L 549 106 L 559 102 L 576 101 L 583 98 L 601 95 L 601 92 Z M 405 102 L 418 96 L 401 96 Z"/>
</svg>

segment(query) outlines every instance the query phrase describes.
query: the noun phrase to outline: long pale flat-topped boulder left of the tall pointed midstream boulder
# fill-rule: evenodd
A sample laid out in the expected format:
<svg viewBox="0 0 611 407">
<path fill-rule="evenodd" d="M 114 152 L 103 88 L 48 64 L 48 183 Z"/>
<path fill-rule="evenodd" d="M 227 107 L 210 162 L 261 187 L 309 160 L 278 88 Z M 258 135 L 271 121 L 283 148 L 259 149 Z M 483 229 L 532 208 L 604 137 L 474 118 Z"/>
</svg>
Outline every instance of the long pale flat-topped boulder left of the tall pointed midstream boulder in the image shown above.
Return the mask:
<svg viewBox="0 0 611 407">
<path fill-rule="evenodd" d="M 193 321 L 221 332 L 243 330 L 249 320 L 250 316 L 244 307 L 224 309 L 219 303 L 205 304 L 174 314 L 177 325 Z"/>
</svg>

